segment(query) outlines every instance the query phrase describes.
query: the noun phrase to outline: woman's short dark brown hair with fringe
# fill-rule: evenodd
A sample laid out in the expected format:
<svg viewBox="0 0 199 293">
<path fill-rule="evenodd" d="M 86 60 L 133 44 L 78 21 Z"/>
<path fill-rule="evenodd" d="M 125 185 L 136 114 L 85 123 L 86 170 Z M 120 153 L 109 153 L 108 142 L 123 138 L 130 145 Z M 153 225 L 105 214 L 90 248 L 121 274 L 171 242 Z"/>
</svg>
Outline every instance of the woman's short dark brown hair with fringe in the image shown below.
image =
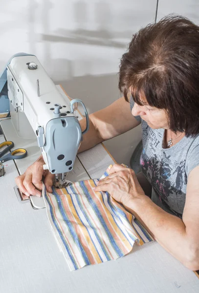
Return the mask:
<svg viewBox="0 0 199 293">
<path fill-rule="evenodd" d="M 121 58 L 119 89 L 125 100 L 132 88 L 135 103 L 167 111 L 170 129 L 199 133 L 199 26 L 167 16 L 133 35 Z"/>
</svg>

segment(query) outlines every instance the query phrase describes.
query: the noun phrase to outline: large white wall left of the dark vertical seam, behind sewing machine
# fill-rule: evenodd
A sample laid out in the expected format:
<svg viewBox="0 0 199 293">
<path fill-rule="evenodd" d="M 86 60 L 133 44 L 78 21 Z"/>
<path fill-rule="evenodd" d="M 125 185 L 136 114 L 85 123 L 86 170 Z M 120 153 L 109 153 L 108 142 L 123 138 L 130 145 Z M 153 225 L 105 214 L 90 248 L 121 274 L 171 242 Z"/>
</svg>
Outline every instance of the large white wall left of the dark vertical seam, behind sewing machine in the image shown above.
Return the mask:
<svg viewBox="0 0 199 293">
<path fill-rule="evenodd" d="M 89 113 L 110 105 L 132 34 L 155 19 L 156 0 L 0 0 L 0 70 L 17 52 L 35 54 L 55 83 Z M 106 142 L 129 164 L 140 128 Z"/>
</svg>

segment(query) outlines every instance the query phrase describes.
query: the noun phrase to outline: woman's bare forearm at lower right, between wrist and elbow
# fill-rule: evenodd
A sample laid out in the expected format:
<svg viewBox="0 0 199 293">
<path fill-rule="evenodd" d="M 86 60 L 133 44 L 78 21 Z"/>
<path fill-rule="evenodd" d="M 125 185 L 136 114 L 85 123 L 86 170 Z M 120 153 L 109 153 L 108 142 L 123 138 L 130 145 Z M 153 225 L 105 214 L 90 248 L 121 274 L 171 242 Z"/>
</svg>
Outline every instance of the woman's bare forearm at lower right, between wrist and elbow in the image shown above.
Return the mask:
<svg viewBox="0 0 199 293">
<path fill-rule="evenodd" d="M 155 240 L 191 270 L 199 270 L 199 261 L 192 250 L 192 241 L 186 234 L 181 219 L 155 205 L 149 197 L 141 197 L 123 204 L 135 215 Z"/>
</svg>

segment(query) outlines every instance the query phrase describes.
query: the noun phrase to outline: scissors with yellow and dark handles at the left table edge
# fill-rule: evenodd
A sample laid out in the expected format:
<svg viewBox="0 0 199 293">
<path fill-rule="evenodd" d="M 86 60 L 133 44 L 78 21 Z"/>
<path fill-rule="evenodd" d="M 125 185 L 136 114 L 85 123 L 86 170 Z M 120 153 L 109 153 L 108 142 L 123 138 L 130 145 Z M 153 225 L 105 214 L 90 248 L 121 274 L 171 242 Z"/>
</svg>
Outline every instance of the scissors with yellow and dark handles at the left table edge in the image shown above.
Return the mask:
<svg viewBox="0 0 199 293">
<path fill-rule="evenodd" d="M 3 156 L 8 150 L 10 150 L 14 146 L 14 143 L 10 142 L 10 141 L 4 142 L 4 143 L 0 144 L 0 149 L 3 146 L 7 146 L 7 147 L 5 147 L 2 151 L 0 151 L 0 163 L 4 163 L 9 160 L 22 159 L 27 156 L 27 150 L 24 148 L 17 148 L 15 150 L 11 151 L 9 154 Z M 22 153 L 22 154 L 17 155 L 17 153 Z"/>
</svg>

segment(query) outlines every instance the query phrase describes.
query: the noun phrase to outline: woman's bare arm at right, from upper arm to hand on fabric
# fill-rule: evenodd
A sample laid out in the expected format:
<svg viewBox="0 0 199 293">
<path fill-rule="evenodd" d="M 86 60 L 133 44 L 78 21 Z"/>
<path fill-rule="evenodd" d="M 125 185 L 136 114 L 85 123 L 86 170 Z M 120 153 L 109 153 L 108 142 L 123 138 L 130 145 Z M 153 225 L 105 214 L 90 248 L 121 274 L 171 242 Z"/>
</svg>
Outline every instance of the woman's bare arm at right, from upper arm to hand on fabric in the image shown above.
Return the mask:
<svg viewBox="0 0 199 293">
<path fill-rule="evenodd" d="M 188 177 L 182 220 L 155 205 L 144 194 L 132 169 L 114 165 L 96 191 L 108 191 L 155 240 L 191 270 L 199 270 L 199 167 Z"/>
</svg>

